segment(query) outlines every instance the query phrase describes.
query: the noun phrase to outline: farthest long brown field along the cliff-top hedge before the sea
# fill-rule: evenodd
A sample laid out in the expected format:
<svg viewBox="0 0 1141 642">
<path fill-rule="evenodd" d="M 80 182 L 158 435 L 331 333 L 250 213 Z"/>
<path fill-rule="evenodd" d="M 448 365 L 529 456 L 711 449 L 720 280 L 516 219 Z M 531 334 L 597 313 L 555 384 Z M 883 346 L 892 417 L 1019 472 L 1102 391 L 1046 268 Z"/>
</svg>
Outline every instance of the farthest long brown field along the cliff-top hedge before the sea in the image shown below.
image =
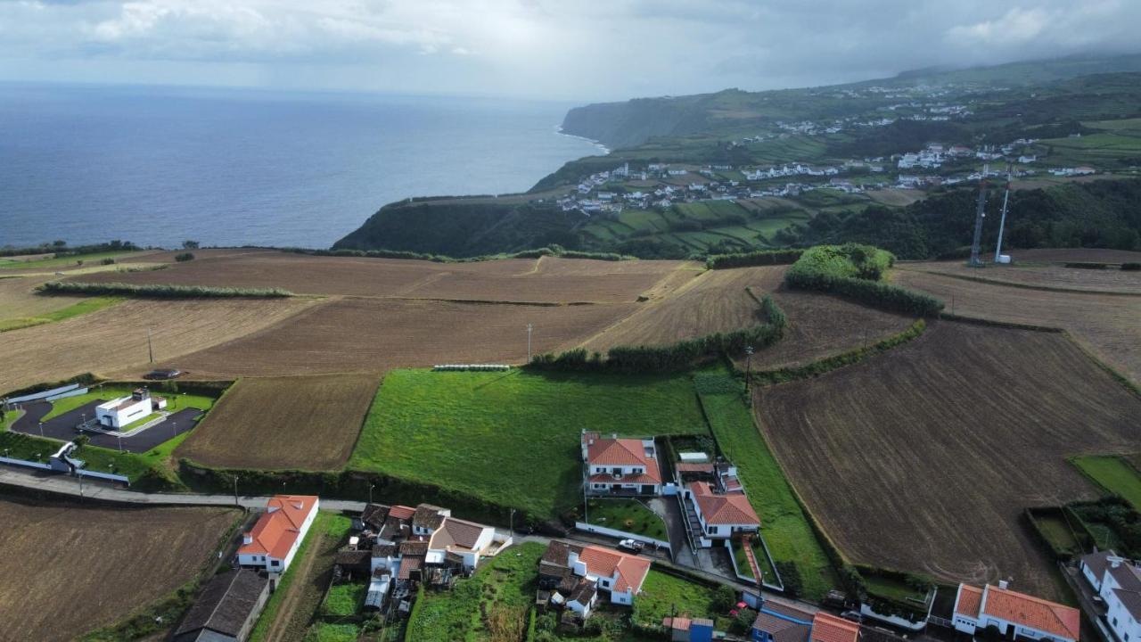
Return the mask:
<svg viewBox="0 0 1141 642">
<path fill-rule="evenodd" d="M 197 256 L 197 254 L 195 254 Z M 574 303 L 633 302 L 679 267 L 671 260 L 543 257 L 476 263 L 307 256 L 276 251 L 203 255 L 165 270 L 76 276 L 82 281 L 285 288 L 297 294 Z M 686 270 L 683 273 L 696 275 Z"/>
</svg>

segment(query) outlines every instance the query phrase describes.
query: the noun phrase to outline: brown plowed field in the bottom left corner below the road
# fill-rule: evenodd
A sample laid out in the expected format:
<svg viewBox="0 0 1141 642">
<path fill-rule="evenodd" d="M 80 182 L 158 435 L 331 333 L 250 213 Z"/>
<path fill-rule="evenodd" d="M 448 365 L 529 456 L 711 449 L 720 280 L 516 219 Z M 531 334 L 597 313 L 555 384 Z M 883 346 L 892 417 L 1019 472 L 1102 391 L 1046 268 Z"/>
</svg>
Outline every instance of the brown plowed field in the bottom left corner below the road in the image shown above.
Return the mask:
<svg viewBox="0 0 1141 642">
<path fill-rule="evenodd" d="M 229 508 L 91 508 L 0 498 L 0 640 L 74 640 L 189 580 Z"/>
</svg>

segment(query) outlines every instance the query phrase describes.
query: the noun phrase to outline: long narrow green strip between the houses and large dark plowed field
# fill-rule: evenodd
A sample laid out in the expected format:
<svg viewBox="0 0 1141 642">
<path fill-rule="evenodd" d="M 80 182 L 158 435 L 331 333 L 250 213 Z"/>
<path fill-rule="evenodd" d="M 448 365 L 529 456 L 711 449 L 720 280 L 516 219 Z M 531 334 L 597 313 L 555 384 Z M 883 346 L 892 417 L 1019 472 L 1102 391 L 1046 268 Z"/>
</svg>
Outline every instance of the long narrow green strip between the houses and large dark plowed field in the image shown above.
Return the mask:
<svg viewBox="0 0 1141 642">
<path fill-rule="evenodd" d="M 737 466 L 750 503 L 761 517 L 761 535 L 772 559 L 795 563 L 804 594 L 823 597 L 839 585 L 835 570 L 743 403 L 741 384 L 727 372 L 710 371 L 695 375 L 695 385 L 713 435 Z"/>
</svg>

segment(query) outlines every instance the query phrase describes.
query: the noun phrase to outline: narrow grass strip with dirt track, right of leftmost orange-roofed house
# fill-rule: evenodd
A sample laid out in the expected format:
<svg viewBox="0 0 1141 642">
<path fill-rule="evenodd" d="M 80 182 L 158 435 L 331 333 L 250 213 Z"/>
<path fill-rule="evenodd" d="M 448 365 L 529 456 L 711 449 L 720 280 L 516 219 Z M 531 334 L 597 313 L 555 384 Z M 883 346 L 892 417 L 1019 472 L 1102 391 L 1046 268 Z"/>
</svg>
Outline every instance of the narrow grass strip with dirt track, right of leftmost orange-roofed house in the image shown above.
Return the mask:
<svg viewBox="0 0 1141 642">
<path fill-rule="evenodd" d="M 293 562 L 250 632 L 250 642 L 300 642 L 324 597 L 333 556 L 351 525 L 353 520 L 345 515 L 317 513 Z"/>
</svg>

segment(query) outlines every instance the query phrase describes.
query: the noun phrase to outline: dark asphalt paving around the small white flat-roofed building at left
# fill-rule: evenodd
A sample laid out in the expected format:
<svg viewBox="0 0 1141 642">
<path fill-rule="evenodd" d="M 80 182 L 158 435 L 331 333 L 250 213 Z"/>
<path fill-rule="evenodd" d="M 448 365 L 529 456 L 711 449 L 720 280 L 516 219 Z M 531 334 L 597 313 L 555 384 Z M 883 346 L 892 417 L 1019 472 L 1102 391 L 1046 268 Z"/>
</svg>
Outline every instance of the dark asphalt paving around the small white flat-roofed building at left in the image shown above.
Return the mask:
<svg viewBox="0 0 1141 642">
<path fill-rule="evenodd" d="M 24 415 L 13 424 L 11 430 L 13 432 L 24 433 L 32 436 L 44 436 L 59 441 L 72 441 L 80 435 L 80 432 L 78 431 L 80 423 L 84 419 L 95 417 L 95 407 L 100 403 L 103 403 L 102 400 L 96 400 L 68 412 L 64 412 L 58 417 L 52 417 L 47 422 L 42 422 L 42 430 L 41 420 L 48 415 L 48 412 L 51 411 L 51 404 L 46 401 L 27 403 L 23 407 Z M 171 439 L 175 439 L 177 435 L 194 428 L 194 425 L 197 423 L 197 418 L 201 415 L 202 410 L 199 410 L 197 408 L 184 408 L 178 412 L 168 416 L 165 420 L 131 436 L 119 438 L 114 434 L 94 432 L 88 432 L 87 435 L 91 440 L 91 446 L 110 448 L 113 450 L 122 449 L 124 452 L 146 452 L 156 446 L 160 446 Z"/>
</svg>

